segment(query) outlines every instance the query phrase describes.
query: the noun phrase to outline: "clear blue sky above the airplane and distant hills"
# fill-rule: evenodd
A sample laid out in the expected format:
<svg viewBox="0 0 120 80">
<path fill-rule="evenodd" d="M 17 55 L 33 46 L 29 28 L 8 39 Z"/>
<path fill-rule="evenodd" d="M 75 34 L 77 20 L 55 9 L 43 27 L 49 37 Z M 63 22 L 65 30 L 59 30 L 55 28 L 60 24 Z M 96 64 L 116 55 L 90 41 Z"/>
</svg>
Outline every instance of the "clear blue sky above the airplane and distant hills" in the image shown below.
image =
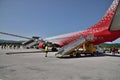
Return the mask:
<svg viewBox="0 0 120 80">
<path fill-rule="evenodd" d="M 47 38 L 85 30 L 104 16 L 112 1 L 0 0 L 0 31 Z M 21 40 L 1 34 L 0 39 Z"/>
</svg>

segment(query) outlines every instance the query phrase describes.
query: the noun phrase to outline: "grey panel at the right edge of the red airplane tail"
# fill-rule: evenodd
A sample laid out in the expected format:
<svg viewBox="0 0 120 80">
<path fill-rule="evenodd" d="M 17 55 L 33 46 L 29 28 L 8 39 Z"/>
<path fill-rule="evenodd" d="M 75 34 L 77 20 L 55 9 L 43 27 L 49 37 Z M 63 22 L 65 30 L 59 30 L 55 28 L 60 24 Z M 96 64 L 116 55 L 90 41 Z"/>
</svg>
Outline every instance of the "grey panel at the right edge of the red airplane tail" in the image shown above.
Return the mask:
<svg viewBox="0 0 120 80">
<path fill-rule="evenodd" d="M 114 30 L 120 30 L 120 1 L 115 0 L 113 7 L 116 6 L 114 16 L 112 18 L 109 30 L 114 31 Z"/>
</svg>

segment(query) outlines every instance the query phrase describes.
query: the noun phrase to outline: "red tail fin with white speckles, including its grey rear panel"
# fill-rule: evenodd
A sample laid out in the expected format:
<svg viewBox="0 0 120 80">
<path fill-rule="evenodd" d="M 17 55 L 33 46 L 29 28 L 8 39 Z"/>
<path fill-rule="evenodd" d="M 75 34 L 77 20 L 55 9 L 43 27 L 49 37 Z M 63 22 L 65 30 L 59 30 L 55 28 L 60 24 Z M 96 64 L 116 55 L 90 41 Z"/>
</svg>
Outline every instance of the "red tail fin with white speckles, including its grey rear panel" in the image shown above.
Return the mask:
<svg viewBox="0 0 120 80">
<path fill-rule="evenodd" d="M 120 0 L 114 0 L 103 18 L 88 30 L 120 30 Z"/>
</svg>

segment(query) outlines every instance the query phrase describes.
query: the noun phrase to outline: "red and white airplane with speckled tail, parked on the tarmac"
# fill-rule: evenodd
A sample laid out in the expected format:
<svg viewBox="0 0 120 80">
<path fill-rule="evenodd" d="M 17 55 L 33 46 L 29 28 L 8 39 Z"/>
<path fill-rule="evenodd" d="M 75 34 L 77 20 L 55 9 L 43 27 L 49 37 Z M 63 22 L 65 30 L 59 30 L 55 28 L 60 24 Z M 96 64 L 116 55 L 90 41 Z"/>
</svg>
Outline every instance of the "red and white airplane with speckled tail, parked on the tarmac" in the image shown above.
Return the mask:
<svg viewBox="0 0 120 80">
<path fill-rule="evenodd" d="M 90 43 L 94 45 L 111 42 L 120 37 L 120 0 L 114 0 L 103 18 L 87 30 L 50 37 L 45 40 L 51 42 L 53 46 L 63 47 L 81 35 L 86 38 L 91 34 L 94 35 L 94 41 Z M 39 42 L 39 48 L 43 48 L 44 45 L 44 41 Z"/>
</svg>

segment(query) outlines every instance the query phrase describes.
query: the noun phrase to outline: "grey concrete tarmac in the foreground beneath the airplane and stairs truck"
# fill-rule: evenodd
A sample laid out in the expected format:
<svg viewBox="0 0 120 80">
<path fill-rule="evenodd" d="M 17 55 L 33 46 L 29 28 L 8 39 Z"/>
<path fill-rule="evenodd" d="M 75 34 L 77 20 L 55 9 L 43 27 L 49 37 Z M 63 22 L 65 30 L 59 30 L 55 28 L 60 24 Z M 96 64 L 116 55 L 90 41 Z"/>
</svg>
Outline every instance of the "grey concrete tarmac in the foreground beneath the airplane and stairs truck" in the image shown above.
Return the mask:
<svg viewBox="0 0 120 80">
<path fill-rule="evenodd" d="M 55 52 L 0 49 L 0 80 L 120 80 L 120 54 L 56 58 Z"/>
</svg>

